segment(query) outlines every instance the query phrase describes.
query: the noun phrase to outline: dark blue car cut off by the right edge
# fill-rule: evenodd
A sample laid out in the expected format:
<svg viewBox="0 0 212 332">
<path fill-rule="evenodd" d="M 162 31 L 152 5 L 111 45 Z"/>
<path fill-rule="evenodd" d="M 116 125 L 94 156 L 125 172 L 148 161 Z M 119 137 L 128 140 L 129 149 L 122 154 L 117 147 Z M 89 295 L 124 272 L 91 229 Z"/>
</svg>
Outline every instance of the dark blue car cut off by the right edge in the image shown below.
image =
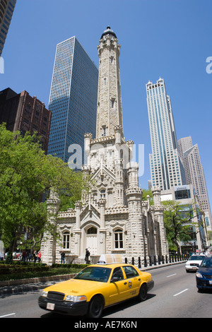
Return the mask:
<svg viewBox="0 0 212 332">
<path fill-rule="evenodd" d="M 212 256 L 206 256 L 196 272 L 196 287 L 199 290 L 212 290 Z"/>
</svg>

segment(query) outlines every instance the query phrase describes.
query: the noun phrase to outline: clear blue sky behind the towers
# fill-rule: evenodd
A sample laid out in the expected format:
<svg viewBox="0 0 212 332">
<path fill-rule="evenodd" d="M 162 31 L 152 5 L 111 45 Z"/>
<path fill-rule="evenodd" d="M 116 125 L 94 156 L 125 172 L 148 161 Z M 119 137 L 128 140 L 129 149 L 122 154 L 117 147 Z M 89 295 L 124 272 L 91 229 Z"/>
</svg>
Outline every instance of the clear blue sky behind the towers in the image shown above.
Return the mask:
<svg viewBox="0 0 212 332">
<path fill-rule="evenodd" d="M 57 43 L 76 35 L 98 66 L 97 45 L 110 25 L 121 47 L 124 136 L 144 144 L 151 178 L 146 83 L 164 78 L 177 139 L 198 143 L 212 204 L 211 0 L 17 0 L 2 57 L 0 89 L 27 90 L 48 107 Z"/>
</svg>

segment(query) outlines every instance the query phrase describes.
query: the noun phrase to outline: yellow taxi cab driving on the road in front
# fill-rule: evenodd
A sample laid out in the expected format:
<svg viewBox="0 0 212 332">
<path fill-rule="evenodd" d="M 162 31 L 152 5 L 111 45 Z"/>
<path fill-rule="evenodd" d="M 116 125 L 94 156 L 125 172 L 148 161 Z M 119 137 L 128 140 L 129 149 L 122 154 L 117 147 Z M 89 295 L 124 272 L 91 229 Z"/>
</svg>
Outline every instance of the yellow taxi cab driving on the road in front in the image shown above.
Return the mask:
<svg viewBox="0 0 212 332">
<path fill-rule="evenodd" d="M 132 297 L 139 302 L 146 300 L 147 292 L 154 286 L 151 273 L 117 262 L 114 256 L 104 255 L 103 261 L 101 256 L 98 264 L 83 268 L 72 279 L 45 288 L 38 299 L 40 308 L 98 318 L 105 307 Z"/>
</svg>

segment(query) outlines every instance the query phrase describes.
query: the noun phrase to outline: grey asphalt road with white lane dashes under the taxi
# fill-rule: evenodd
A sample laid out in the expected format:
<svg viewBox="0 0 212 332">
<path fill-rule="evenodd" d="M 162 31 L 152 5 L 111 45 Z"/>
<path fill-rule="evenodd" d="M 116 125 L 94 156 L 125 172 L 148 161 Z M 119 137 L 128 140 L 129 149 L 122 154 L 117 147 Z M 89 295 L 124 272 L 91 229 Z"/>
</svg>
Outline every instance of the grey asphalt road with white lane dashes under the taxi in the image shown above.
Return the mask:
<svg viewBox="0 0 212 332">
<path fill-rule="evenodd" d="M 184 263 L 150 271 L 155 287 L 145 302 L 129 300 L 105 309 L 105 319 L 137 318 L 212 318 L 212 292 L 200 293 L 195 273 L 186 273 Z M 40 291 L 0 298 L 0 318 L 51 318 L 61 316 L 37 305 Z M 62 316 L 63 319 L 69 319 Z"/>
</svg>

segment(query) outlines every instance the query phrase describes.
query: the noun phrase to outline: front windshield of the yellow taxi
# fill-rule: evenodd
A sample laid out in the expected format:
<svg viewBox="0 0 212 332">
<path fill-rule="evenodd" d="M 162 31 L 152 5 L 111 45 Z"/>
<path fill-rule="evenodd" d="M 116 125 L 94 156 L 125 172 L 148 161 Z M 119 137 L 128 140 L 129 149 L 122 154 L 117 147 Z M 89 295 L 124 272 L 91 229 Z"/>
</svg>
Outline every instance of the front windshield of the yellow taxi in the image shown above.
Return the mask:
<svg viewBox="0 0 212 332">
<path fill-rule="evenodd" d="M 74 279 L 92 280 L 107 283 L 108 278 L 110 277 L 110 273 L 111 268 L 88 266 L 87 268 L 84 268 L 83 271 L 78 273 Z"/>
</svg>

